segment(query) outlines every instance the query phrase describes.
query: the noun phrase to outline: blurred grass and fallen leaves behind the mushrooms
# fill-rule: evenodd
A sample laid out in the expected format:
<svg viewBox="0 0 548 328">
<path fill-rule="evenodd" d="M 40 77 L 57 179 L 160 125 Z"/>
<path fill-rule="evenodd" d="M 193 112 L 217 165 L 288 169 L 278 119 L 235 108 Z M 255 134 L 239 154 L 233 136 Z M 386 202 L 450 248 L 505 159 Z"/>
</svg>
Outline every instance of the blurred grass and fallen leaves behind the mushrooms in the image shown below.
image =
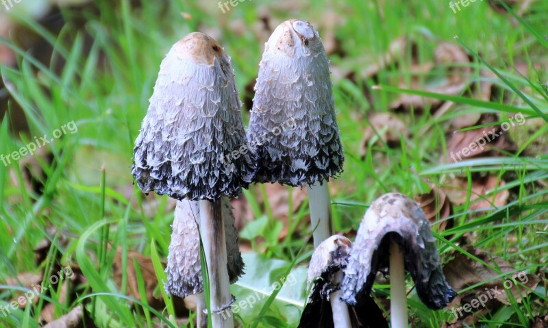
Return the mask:
<svg viewBox="0 0 548 328">
<path fill-rule="evenodd" d="M 545 0 L 0 0 L 0 327 L 192 327 L 195 300 L 163 291 L 175 201 L 134 186 L 134 140 L 160 62 L 192 31 L 232 56 L 247 124 L 264 42 L 290 18 L 331 60 L 337 233 L 353 238 L 380 194 L 408 194 L 460 292 L 434 312 L 408 286 L 412 327 L 548 327 Z M 263 295 L 238 323 L 296 327 L 306 190 L 253 185 L 232 203 L 246 264 L 232 292 Z M 451 312 L 521 272 L 486 307 Z M 287 273 L 295 283 L 271 294 Z M 386 315 L 388 294 L 379 277 Z"/>
</svg>

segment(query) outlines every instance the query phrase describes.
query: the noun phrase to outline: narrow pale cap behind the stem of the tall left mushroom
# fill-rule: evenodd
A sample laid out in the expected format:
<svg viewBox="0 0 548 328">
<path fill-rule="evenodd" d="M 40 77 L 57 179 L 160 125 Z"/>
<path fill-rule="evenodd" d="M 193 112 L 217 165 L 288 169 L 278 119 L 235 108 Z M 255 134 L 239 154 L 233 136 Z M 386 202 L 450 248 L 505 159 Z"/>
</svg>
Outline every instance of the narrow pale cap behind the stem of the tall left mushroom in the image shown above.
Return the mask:
<svg viewBox="0 0 548 328">
<path fill-rule="evenodd" d="M 234 283 L 244 273 L 244 262 L 240 253 L 238 232 L 234 226 L 232 205 L 226 198 L 223 198 L 222 202 L 227 243 L 227 270 L 230 283 Z M 164 286 L 168 294 L 184 298 L 203 292 L 198 226 L 199 203 L 177 201 L 167 257 L 167 283 Z"/>
</svg>

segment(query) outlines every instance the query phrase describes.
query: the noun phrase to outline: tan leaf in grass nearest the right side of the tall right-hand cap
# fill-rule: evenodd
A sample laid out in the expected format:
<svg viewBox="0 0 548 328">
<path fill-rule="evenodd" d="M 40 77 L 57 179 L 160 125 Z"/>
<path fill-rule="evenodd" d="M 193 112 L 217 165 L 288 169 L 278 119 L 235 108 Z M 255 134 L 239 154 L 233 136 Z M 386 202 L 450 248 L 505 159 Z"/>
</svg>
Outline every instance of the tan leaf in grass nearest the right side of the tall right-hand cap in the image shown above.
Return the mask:
<svg viewBox="0 0 548 328">
<path fill-rule="evenodd" d="M 399 144 L 399 138 L 402 135 L 406 138 L 410 136 L 406 123 L 403 123 L 395 114 L 373 113 L 369 116 L 369 126 L 366 127 L 360 142 L 360 155 L 362 157 L 367 153 L 369 140 L 377 134 L 383 142 L 388 144 Z"/>
</svg>

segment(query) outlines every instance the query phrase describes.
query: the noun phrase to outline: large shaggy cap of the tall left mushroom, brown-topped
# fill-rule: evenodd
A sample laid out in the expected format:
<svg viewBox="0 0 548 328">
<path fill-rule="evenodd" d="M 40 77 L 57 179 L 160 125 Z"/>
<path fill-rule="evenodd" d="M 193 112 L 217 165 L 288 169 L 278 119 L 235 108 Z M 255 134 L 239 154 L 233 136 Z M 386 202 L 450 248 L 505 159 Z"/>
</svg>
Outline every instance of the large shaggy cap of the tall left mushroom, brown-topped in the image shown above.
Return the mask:
<svg viewBox="0 0 548 328">
<path fill-rule="evenodd" d="M 215 40 L 196 32 L 173 45 L 135 142 L 139 188 L 178 200 L 237 197 L 256 171 L 240 107 L 230 58 Z"/>
</svg>

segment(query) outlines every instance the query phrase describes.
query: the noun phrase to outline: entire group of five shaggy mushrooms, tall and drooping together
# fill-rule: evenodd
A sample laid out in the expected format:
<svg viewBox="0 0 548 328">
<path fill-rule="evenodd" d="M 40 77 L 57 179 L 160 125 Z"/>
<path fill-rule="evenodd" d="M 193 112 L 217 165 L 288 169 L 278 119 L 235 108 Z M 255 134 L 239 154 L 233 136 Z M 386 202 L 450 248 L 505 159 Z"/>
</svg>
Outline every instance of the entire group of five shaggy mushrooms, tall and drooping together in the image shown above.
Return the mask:
<svg viewBox="0 0 548 328">
<path fill-rule="evenodd" d="M 234 327 L 229 285 L 244 264 L 228 197 L 251 182 L 308 189 L 316 250 L 299 327 L 388 327 L 370 295 L 375 275 L 388 267 L 392 328 L 408 325 L 405 270 L 427 307 L 441 309 L 455 297 L 428 220 L 403 194 L 374 201 L 353 244 L 332 236 L 328 181 L 342 172 L 344 155 L 329 60 L 312 25 L 286 21 L 266 42 L 247 134 L 241 105 L 224 49 L 206 34 L 188 34 L 162 61 L 135 142 L 136 184 L 177 199 L 165 288 L 197 294 L 198 327 L 207 327 L 206 314 L 214 328 Z"/>
</svg>

